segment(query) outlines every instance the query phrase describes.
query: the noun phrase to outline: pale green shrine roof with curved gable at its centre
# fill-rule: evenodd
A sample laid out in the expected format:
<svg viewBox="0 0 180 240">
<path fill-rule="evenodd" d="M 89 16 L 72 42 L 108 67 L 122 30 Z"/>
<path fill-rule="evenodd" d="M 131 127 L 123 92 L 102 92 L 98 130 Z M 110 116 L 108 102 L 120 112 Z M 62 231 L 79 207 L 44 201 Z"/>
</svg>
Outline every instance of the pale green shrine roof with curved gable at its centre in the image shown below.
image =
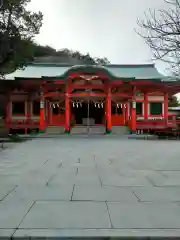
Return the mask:
<svg viewBox="0 0 180 240">
<path fill-rule="evenodd" d="M 56 77 L 59 79 L 67 79 L 70 73 L 98 73 L 103 72 L 112 80 L 139 79 L 139 80 L 161 80 L 164 78 L 154 64 L 139 65 L 69 65 L 69 64 L 52 64 L 52 63 L 31 63 L 24 69 L 5 76 L 6 79 L 14 80 L 15 78 L 42 78 Z"/>
</svg>

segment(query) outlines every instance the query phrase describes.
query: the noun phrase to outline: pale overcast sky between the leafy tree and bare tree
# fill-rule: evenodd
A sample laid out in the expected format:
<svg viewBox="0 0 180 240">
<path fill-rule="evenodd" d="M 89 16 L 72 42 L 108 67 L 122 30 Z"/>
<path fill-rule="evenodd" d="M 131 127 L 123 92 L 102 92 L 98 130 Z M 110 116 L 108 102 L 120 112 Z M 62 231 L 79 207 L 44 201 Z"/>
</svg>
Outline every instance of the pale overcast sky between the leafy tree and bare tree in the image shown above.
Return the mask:
<svg viewBox="0 0 180 240">
<path fill-rule="evenodd" d="M 135 32 L 137 19 L 164 0 L 32 0 L 29 8 L 44 14 L 36 41 L 107 57 L 114 64 L 151 63 L 152 54 Z M 157 64 L 161 72 L 164 65 Z"/>
</svg>

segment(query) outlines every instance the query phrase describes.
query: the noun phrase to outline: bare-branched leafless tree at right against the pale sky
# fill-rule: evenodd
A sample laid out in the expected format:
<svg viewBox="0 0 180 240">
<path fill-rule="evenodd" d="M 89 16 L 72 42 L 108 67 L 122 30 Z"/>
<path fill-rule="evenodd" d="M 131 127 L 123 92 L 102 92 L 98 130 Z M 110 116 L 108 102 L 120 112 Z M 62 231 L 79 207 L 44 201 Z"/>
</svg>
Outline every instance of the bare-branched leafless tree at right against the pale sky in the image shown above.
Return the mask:
<svg viewBox="0 0 180 240">
<path fill-rule="evenodd" d="M 173 74 L 180 74 L 180 0 L 164 0 L 166 9 L 149 10 L 145 19 L 138 20 L 140 32 L 153 51 L 156 60 L 171 66 Z"/>
</svg>

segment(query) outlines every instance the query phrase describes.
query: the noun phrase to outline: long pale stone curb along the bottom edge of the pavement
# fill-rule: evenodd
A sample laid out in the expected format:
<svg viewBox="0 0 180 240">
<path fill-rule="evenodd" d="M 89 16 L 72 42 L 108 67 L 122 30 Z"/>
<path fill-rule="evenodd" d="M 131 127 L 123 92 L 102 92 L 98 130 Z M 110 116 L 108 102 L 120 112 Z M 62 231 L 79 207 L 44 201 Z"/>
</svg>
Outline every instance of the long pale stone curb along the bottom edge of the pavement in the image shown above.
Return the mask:
<svg viewBox="0 0 180 240">
<path fill-rule="evenodd" d="M 9 239 L 123 239 L 180 237 L 180 229 L 18 229 Z M 1 236 L 0 236 L 1 238 Z M 4 237 L 2 239 L 5 239 Z M 8 239 L 8 237 L 7 237 Z"/>
</svg>

